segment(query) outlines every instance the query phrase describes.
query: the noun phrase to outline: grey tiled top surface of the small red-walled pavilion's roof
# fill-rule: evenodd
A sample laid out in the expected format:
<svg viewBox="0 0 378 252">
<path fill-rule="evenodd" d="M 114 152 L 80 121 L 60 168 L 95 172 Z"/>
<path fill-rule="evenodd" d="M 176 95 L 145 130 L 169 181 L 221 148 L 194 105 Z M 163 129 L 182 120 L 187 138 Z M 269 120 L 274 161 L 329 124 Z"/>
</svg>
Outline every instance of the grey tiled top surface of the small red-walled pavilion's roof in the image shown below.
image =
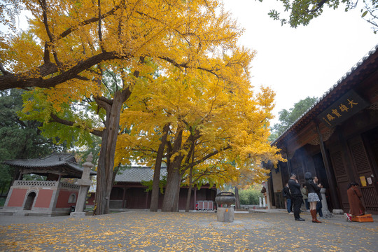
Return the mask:
<svg viewBox="0 0 378 252">
<path fill-rule="evenodd" d="M 45 158 L 35 158 L 27 160 L 5 160 L 6 165 L 21 168 L 49 168 L 49 167 L 67 167 L 75 173 L 83 173 L 83 167 L 76 162 L 75 157 L 70 153 L 53 153 Z M 90 172 L 91 175 L 96 175 L 97 172 Z"/>
</svg>

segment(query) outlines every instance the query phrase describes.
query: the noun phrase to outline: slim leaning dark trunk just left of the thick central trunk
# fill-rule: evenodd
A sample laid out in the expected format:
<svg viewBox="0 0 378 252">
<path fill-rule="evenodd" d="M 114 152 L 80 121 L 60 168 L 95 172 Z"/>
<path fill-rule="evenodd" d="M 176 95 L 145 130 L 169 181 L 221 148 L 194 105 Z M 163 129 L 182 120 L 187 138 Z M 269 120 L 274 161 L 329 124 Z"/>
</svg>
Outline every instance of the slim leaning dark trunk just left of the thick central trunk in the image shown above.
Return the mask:
<svg viewBox="0 0 378 252">
<path fill-rule="evenodd" d="M 169 124 L 165 125 L 162 130 L 162 141 L 156 156 L 155 171 L 153 172 L 153 189 L 151 192 L 150 211 L 158 211 L 159 207 L 159 183 L 160 183 L 160 168 L 162 166 L 162 157 L 164 155 L 165 144 L 167 143 L 169 131 Z"/>
</svg>

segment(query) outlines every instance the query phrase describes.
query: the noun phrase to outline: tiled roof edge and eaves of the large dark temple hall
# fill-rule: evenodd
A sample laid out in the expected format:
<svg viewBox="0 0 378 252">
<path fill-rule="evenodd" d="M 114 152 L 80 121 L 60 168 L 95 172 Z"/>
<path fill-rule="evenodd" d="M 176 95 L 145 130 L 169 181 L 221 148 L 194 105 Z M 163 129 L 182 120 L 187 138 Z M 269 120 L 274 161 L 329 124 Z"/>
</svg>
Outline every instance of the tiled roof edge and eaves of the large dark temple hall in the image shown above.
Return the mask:
<svg viewBox="0 0 378 252">
<path fill-rule="evenodd" d="M 359 78 L 365 76 L 374 71 L 377 71 L 377 55 L 378 55 L 378 44 L 372 48 L 367 55 L 360 59 L 360 61 L 353 66 L 347 73 L 340 78 L 337 83 L 332 85 L 329 90 L 327 90 L 323 97 L 318 98 L 314 105 L 311 106 L 307 111 L 305 111 L 300 118 L 295 120 L 295 122 L 288 127 L 288 129 L 281 134 L 271 145 L 277 145 L 281 143 L 286 137 L 290 137 L 293 132 L 299 131 L 304 125 L 309 123 L 310 120 L 316 118 L 318 114 L 323 111 L 323 109 L 329 106 L 332 102 L 342 96 L 348 88 L 353 88 L 358 85 Z M 353 80 L 353 81 L 352 81 Z M 342 91 L 344 90 L 344 91 Z"/>
</svg>

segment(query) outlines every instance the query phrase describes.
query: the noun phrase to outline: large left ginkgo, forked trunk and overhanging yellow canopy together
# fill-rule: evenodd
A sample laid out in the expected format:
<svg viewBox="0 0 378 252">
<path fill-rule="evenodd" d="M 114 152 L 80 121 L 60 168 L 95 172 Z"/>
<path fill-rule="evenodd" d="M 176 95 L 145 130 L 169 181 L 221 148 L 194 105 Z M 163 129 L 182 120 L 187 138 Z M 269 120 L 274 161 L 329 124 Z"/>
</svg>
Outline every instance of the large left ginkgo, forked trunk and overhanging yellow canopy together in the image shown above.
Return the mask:
<svg viewBox="0 0 378 252">
<path fill-rule="evenodd" d="M 22 8 L 30 12 L 30 26 L 18 32 L 15 13 Z M 148 78 L 145 62 L 235 78 L 228 74 L 232 67 L 214 57 L 245 53 L 236 46 L 242 30 L 216 0 L 4 0 L 0 10 L 1 25 L 13 28 L 0 34 L 0 90 L 40 87 L 35 92 L 52 103 L 41 108 L 44 123 L 60 121 L 102 137 L 98 214 L 109 210 L 120 111 L 141 76 Z M 109 67 L 118 69 L 122 84 L 106 97 L 102 78 Z M 64 118 L 64 109 L 87 97 L 96 102 L 102 126 Z"/>
</svg>

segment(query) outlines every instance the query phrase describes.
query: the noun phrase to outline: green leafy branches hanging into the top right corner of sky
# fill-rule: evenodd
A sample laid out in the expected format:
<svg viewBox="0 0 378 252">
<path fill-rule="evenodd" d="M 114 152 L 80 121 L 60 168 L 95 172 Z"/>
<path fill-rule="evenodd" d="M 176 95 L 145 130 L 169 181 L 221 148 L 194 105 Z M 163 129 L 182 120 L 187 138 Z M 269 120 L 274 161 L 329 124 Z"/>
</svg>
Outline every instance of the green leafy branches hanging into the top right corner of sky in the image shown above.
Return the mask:
<svg viewBox="0 0 378 252">
<path fill-rule="evenodd" d="M 262 0 L 259 0 L 262 1 Z M 288 24 L 290 27 L 298 27 L 299 25 L 308 25 L 313 18 L 317 18 L 323 13 L 323 8 L 337 9 L 340 3 L 345 4 L 345 11 L 352 10 L 357 7 L 358 0 L 279 0 L 283 4 L 285 12 L 289 15 L 282 18 L 281 13 L 277 10 L 270 10 L 268 15 L 274 20 L 281 21 L 282 25 Z M 377 0 L 363 0 L 361 7 L 361 18 L 372 25 L 374 34 L 378 31 L 378 1 Z"/>
</svg>

